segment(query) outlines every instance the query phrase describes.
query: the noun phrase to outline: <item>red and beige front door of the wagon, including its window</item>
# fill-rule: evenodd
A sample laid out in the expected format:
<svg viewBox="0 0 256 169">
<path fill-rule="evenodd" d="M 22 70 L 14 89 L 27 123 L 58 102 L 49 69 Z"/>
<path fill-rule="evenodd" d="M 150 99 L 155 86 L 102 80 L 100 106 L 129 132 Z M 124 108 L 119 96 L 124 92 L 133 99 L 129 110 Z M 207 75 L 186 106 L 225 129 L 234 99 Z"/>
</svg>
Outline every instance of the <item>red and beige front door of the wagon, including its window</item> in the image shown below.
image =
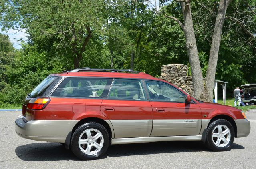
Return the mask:
<svg viewBox="0 0 256 169">
<path fill-rule="evenodd" d="M 186 95 L 175 87 L 158 81 L 145 81 L 153 108 L 151 137 L 198 135 L 201 110 L 198 104 L 186 104 Z"/>
</svg>

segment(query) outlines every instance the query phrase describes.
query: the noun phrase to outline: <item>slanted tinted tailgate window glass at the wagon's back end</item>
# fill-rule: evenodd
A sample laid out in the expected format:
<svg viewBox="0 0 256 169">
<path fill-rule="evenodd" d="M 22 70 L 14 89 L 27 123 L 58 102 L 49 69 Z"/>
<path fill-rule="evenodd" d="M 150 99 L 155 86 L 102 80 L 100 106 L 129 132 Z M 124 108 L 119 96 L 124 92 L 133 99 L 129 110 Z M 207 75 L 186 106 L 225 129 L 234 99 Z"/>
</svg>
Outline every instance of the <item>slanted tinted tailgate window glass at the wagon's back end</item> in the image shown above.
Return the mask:
<svg viewBox="0 0 256 169">
<path fill-rule="evenodd" d="M 52 89 L 60 81 L 60 77 L 47 77 L 45 78 L 34 90 L 28 95 L 28 97 L 48 97 Z"/>
</svg>

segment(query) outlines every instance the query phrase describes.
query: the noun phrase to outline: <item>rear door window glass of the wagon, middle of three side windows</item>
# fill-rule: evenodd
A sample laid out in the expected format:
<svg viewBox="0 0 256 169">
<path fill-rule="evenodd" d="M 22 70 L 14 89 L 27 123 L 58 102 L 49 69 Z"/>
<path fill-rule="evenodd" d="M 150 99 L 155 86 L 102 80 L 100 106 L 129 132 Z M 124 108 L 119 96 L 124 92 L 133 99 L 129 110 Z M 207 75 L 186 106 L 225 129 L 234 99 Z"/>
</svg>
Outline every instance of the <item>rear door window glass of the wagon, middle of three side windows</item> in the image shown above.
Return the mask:
<svg viewBox="0 0 256 169">
<path fill-rule="evenodd" d="M 145 94 L 139 80 L 117 79 L 111 87 L 109 99 L 145 100 Z"/>
</svg>

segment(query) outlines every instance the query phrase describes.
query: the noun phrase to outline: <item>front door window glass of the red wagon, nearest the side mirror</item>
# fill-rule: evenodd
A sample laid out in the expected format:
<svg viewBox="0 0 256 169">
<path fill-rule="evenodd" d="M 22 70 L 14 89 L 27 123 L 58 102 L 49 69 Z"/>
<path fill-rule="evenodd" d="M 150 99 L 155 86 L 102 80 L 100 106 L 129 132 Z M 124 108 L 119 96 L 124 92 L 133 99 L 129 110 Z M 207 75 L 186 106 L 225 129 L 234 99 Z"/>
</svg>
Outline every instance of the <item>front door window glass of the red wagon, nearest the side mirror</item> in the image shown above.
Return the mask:
<svg viewBox="0 0 256 169">
<path fill-rule="evenodd" d="M 145 82 L 151 101 L 186 102 L 185 95 L 171 85 L 155 81 Z"/>
</svg>

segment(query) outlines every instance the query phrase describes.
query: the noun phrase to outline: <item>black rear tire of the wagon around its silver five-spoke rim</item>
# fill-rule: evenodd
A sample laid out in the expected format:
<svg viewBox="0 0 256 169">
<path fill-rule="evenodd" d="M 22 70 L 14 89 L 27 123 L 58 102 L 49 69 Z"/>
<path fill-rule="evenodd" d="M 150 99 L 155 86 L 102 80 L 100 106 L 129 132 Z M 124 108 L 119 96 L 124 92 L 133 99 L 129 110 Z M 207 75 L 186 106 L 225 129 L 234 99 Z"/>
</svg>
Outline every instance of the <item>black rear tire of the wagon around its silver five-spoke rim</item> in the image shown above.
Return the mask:
<svg viewBox="0 0 256 169">
<path fill-rule="evenodd" d="M 101 137 L 101 139 L 103 139 L 103 146 L 100 149 L 99 152 L 94 153 L 92 155 L 86 154 L 84 153 L 80 147 L 79 147 L 79 137 L 81 136 L 81 134 L 87 130 L 87 129 L 96 129 L 98 131 L 100 131 L 100 133 L 103 135 L 103 138 Z M 84 137 L 84 136 L 82 136 Z M 85 136 L 86 137 L 86 136 Z M 86 138 L 87 139 L 87 138 Z M 98 140 L 99 141 L 99 140 Z M 91 145 L 91 144 L 90 144 Z M 86 149 L 85 146 L 87 145 L 83 145 L 84 147 L 82 147 L 83 149 Z M 92 145 L 93 147 L 93 145 Z M 89 123 L 85 123 L 81 126 L 79 126 L 73 133 L 72 137 L 71 137 L 71 151 L 80 159 L 82 160 L 94 160 L 94 159 L 98 159 L 100 158 L 106 151 L 107 148 L 109 147 L 109 133 L 107 132 L 107 129 L 99 124 L 99 123 L 95 123 L 95 122 L 89 122 Z M 95 147 L 93 147 L 92 149 L 95 149 Z"/>
</svg>

